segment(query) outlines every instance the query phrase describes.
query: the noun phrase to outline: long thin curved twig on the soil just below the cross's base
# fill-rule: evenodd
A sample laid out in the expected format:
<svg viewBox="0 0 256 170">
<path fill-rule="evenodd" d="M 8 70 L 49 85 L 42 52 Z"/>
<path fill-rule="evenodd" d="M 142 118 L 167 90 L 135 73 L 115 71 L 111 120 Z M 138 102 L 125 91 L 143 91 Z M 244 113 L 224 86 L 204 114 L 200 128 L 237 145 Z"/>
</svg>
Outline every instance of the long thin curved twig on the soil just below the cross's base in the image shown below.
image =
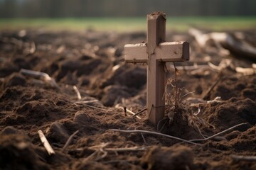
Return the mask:
<svg viewBox="0 0 256 170">
<path fill-rule="evenodd" d="M 183 140 L 179 137 L 174 137 L 174 136 L 171 136 L 171 135 L 165 135 L 165 134 L 162 134 L 162 133 L 159 133 L 159 132 L 151 132 L 151 131 L 147 131 L 147 130 L 117 130 L 117 129 L 107 130 L 107 132 L 109 132 L 109 131 L 125 132 L 125 133 L 132 133 L 132 132 L 148 133 L 148 134 L 153 134 L 153 135 L 160 135 L 160 136 L 164 136 L 164 137 L 169 137 L 169 138 L 174 139 L 174 140 L 181 140 L 182 142 L 187 142 L 187 143 L 190 143 L 190 144 L 193 144 L 193 145 L 199 145 L 197 143 L 194 143 L 194 142 L 191 142 L 191 141 L 188 141 L 188 140 Z"/>
</svg>

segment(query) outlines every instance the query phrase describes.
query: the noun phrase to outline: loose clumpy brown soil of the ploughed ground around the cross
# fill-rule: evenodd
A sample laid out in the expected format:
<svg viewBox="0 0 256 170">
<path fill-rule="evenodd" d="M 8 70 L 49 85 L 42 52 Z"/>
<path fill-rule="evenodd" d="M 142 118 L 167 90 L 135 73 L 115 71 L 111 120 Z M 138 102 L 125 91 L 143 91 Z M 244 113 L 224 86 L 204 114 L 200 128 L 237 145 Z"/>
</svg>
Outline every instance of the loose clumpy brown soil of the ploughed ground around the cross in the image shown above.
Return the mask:
<svg viewBox="0 0 256 170">
<path fill-rule="evenodd" d="M 255 44 L 255 31 L 242 33 Z M 221 71 L 208 68 L 196 74 L 190 70 L 178 72 L 177 83 L 185 88 L 183 94 L 196 91 L 191 97 L 222 98 L 221 103 L 201 105 L 199 116 L 215 127 L 201 127 L 203 135 L 247 123 L 215 140 L 191 145 L 156 135 L 144 134 L 143 138 L 140 133 L 107 131 L 156 131 L 145 113 L 139 115 L 139 120 L 114 107 L 118 104 L 137 112 L 146 105 L 146 66 L 124 64 L 123 55 L 124 45 L 144 41 L 145 33 L 27 30 L 26 35 L 18 35 L 18 30 L 0 32 L 0 169 L 256 169 L 256 162 L 230 157 L 256 156 L 256 77 L 235 72 L 235 67 L 251 67 L 252 61 L 241 55 L 221 57 L 214 45 L 201 50 L 187 33 L 167 34 L 167 40 L 191 43 L 191 61 L 177 66 L 233 61 Z M 46 72 L 60 89 L 24 76 L 20 69 Z M 174 69 L 169 65 L 167 69 L 169 77 L 174 78 Z M 98 101 L 75 103 L 74 85 L 82 101 Z M 54 155 L 47 154 L 38 130 L 43 130 Z M 63 152 L 65 142 L 76 130 L 78 134 Z M 201 138 L 184 121 L 167 125 L 165 132 L 186 140 Z M 105 148 L 145 146 L 146 150 L 108 151 L 100 159 L 103 153 L 92 147 L 102 143 L 107 144 Z M 93 154 L 95 150 L 97 154 Z"/>
</svg>

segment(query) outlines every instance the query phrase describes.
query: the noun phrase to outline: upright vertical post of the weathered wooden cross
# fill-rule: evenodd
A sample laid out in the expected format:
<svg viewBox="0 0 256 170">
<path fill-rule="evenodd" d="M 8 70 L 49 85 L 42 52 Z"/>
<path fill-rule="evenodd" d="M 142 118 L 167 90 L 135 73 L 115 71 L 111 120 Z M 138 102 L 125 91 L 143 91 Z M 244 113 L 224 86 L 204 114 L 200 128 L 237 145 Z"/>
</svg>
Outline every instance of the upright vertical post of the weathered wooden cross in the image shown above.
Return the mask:
<svg viewBox="0 0 256 170">
<path fill-rule="evenodd" d="M 164 62 L 156 59 L 154 51 L 160 42 L 166 39 L 166 15 L 165 13 L 151 13 L 147 16 L 147 83 L 146 83 L 146 107 L 149 122 L 157 125 L 164 118 Z"/>
</svg>

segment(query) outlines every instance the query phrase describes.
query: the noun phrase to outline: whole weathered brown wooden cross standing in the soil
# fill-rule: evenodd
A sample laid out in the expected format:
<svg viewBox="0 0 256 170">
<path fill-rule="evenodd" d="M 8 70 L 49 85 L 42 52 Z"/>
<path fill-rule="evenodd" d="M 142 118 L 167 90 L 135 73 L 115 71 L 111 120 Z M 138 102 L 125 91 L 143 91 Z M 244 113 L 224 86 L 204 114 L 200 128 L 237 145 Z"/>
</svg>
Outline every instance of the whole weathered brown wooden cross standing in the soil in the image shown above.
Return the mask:
<svg viewBox="0 0 256 170">
<path fill-rule="evenodd" d="M 124 60 L 128 63 L 146 63 L 146 108 L 149 122 L 157 125 L 164 118 L 166 62 L 189 60 L 188 42 L 165 42 L 166 14 L 147 15 L 146 43 L 124 46 Z"/>
</svg>

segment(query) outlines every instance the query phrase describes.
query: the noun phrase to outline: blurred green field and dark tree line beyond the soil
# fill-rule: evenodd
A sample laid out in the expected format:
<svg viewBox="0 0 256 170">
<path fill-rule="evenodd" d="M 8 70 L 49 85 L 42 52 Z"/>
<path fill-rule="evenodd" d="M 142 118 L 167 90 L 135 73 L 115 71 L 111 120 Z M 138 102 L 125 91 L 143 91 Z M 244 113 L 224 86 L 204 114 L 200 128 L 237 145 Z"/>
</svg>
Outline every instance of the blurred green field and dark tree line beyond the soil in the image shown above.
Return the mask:
<svg viewBox="0 0 256 170">
<path fill-rule="evenodd" d="M 255 0 L 0 0 L 0 28 L 142 30 L 153 11 L 178 30 L 256 28 Z"/>
</svg>

